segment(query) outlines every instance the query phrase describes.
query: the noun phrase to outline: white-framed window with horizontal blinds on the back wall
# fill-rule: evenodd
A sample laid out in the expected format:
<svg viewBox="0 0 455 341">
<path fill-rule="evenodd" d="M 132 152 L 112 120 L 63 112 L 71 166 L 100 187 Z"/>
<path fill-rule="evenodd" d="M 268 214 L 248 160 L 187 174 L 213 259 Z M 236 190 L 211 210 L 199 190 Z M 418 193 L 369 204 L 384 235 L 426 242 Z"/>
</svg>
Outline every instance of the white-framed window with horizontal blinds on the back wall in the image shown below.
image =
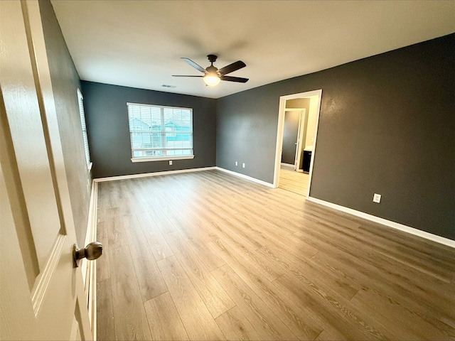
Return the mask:
<svg viewBox="0 0 455 341">
<path fill-rule="evenodd" d="M 194 158 L 193 109 L 127 103 L 133 162 Z"/>
</svg>

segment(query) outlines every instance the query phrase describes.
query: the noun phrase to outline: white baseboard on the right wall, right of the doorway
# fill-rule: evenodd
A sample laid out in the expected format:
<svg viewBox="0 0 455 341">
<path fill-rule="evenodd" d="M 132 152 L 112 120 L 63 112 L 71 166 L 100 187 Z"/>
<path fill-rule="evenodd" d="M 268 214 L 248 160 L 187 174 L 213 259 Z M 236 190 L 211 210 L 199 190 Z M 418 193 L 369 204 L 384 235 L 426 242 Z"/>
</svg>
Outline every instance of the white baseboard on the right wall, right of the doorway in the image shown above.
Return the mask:
<svg viewBox="0 0 455 341">
<path fill-rule="evenodd" d="M 375 217 L 374 215 L 368 215 L 368 213 L 360 212 L 357 210 L 353 210 L 352 208 L 344 207 L 341 205 L 333 204 L 332 202 L 324 201 L 321 199 L 316 199 L 316 197 L 307 197 L 306 200 L 311 202 L 316 202 L 316 204 L 324 205 L 327 207 L 331 207 L 335 210 L 348 213 L 350 215 L 355 215 L 355 217 L 360 217 L 365 220 L 370 220 L 371 222 L 378 222 L 379 224 L 385 225 L 387 227 L 392 227 L 392 229 L 399 229 L 400 231 L 407 232 L 410 234 L 414 234 L 415 236 L 419 236 L 425 239 L 432 240 L 433 242 L 437 242 L 439 244 L 444 244 L 447 247 L 454 247 L 455 248 L 455 240 L 451 240 L 448 238 L 444 238 L 441 236 L 437 236 L 436 234 L 432 234 L 429 232 L 422 231 L 420 229 L 415 229 L 414 227 L 409 227 L 403 224 L 399 224 L 397 222 L 392 222 L 390 220 L 386 220 L 384 218 Z"/>
</svg>

